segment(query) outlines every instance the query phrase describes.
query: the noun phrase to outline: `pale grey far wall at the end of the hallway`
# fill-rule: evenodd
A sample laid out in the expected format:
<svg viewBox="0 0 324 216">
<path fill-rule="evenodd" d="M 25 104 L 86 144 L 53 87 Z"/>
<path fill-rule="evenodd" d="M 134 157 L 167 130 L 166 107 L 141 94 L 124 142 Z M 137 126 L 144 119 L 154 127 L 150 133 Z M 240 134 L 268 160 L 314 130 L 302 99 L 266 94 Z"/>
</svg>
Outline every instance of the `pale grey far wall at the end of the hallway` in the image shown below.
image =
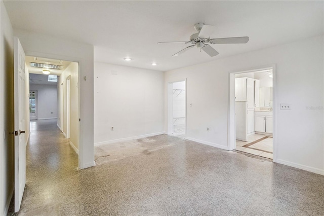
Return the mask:
<svg viewBox="0 0 324 216">
<path fill-rule="evenodd" d="M 57 86 L 30 84 L 29 89 L 37 91 L 37 119 L 57 118 Z"/>
</svg>

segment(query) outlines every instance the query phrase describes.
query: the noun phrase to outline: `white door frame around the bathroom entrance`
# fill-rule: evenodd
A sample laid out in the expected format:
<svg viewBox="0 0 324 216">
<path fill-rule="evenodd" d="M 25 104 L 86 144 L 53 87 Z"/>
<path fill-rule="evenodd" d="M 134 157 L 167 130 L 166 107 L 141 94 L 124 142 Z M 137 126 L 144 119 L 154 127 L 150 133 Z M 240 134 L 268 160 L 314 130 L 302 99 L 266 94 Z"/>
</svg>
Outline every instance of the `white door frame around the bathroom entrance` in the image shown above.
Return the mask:
<svg viewBox="0 0 324 216">
<path fill-rule="evenodd" d="M 264 65 L 260 67 L 254 67 L 251 69 L 242 69 L 240 71 L 234 71 L 229 74 L 229 116 L 228 116 L 228 142 L 227 148 L 228 150 L 234 150 L 236 147 L 236 138 L 235 138 L 235 75 L 236 74 L 244 74 L 244 73 L 252 73 L 260 70 L 272 69 L 272 92 L 273 92 L 273 104 L 272 104 L 272 114 L 273 114 L 273 152 L 272 152 L 272 161 L 276 162 L 277 160 L 277 101 L 276 101 L 276 67 L 275 64 Z"/>
</svg>

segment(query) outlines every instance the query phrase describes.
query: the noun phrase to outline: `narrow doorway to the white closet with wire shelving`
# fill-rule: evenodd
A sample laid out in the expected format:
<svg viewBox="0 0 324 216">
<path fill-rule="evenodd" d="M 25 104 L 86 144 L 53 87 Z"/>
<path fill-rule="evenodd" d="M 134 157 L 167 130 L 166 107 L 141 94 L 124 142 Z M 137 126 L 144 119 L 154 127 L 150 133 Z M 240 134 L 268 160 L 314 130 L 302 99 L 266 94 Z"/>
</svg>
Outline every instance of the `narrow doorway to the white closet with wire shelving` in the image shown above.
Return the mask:
<svg viewBox="0 0 324 216">
<path fill-rule="evenodd" d="M 169 84 L 169 135 L 186 138 L 186 82 Z"/>
</svg>

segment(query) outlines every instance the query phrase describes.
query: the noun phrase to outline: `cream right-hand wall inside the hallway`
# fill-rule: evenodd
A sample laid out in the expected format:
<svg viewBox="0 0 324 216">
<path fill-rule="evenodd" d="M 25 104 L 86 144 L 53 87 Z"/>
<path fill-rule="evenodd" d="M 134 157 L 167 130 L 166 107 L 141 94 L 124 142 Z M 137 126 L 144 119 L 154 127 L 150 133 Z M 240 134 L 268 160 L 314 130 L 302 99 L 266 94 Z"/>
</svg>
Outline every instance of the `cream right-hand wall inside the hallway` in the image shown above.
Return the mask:
<svg viewBox="0 0 324 216">
<path fill-rule="evenodd" d="M 58 100 L 60 102 L 59 114 L 62 116 L 62 120 L 58 119 L 57 124 L 63 132 L 67 134 L 67 101 L 66 101 L 66 78 L 70 76 L 70 143 L 73 149 L 78 153 L 79 149 L 79 92 L 78 92 L 78 64 L 76 62 L 71 62 L 66 69 L 63 71 L 58 80 L 58 86 L 63 88 L 63 95 L 58 94 Z M 61 85 L 63 83 L 63 85 Z M 63 96 L 63 97 L 62 97 Z"/>
</svg>

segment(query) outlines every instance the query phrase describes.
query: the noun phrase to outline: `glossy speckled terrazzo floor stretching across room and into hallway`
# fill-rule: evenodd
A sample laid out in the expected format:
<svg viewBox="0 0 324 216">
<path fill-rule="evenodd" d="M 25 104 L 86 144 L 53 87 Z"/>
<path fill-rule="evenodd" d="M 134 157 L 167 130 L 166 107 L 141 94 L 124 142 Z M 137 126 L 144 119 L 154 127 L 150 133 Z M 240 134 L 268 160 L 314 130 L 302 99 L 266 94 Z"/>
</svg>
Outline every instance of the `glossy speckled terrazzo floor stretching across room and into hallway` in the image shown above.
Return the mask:
<svg viewBox="0 0 324 216">
<path fill-rule="evenodd" d="M 53 122 L 36 122 L 19 215 L 323 215 L 324 176 L 181 138 L 75 170 Z M 51 130 L 51 131 L 48 131 Z"/>
</svg>

